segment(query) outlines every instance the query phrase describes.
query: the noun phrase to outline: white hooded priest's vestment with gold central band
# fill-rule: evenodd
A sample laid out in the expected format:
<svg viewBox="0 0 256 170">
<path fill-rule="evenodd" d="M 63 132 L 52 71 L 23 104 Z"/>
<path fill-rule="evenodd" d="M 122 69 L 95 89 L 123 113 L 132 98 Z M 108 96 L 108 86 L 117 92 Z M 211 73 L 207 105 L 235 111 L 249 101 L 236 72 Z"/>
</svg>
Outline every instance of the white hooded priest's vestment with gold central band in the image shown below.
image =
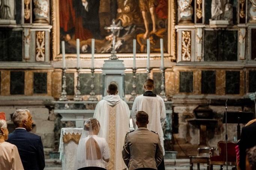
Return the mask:
<svg viewBox="0 0 256 170">
<path fill-rule="evenodd" d="M 96 105 L 94 118 L 100 122 L 100 131 L 108 142 L 110 161 L 108 170 L 123 170 L 126 168 L 122 158 L 124 137 L 130 131 L 130 109 L 119 95 L 105 96 Z"/>
</svg>

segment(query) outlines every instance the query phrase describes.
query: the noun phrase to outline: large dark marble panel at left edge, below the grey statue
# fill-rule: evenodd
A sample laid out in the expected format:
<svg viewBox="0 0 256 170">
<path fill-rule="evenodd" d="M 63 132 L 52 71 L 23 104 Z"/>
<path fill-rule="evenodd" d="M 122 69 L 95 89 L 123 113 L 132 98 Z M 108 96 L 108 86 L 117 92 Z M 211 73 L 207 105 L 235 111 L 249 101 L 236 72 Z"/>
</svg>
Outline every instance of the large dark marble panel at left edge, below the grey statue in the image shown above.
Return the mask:
<svg viewBox="0 0 256 170">
<path fill-rule="evenodd" d="M 22 31 L 1 29 L 0 49 L 0 61 L 22 61 Z"/>
</svg>

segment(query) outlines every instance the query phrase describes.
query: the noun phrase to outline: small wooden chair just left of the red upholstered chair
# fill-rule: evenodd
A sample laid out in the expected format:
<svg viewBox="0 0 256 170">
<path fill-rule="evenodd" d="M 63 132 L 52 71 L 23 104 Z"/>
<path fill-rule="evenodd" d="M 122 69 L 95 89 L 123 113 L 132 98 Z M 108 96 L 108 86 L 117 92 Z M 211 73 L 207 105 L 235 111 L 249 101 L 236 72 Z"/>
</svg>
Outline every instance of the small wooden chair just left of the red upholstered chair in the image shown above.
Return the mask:
<svg viewBox="0 0 256 170">
<path fill-rule="evenodd" d="M 211 150 L 210 147 L 201 147 L 198 148 L 198 155 L 197 156 L 191 156 L 189 157 L 190 160 L 190 170 L 193 170 L 193 164 L 197 164 L 197 169 L 200 170 L 200 164 L 205 163 L 207 164 L 207 170 L 210 169 L 209 167 L 209 158 L 211 156 Z"/>
</svg>

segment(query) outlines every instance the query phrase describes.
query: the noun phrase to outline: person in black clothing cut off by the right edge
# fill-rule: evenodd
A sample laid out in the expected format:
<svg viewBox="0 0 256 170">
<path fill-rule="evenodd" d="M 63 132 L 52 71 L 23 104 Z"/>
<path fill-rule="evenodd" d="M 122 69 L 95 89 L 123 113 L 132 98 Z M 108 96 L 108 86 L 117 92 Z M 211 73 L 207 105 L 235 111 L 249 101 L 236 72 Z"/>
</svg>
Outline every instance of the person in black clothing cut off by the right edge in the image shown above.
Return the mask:
<svg viewBox="0 0 256 170">
<path fill-rule="evenodd" d="M 256 121 L 256 120 L 255 120 Z M 241 170 L 246 170 L 246 149 L 252 148 L 256 145 L 256 122 L 243 127 L 240 137 L 240 162 L 239 166 Z"/>
</svg>

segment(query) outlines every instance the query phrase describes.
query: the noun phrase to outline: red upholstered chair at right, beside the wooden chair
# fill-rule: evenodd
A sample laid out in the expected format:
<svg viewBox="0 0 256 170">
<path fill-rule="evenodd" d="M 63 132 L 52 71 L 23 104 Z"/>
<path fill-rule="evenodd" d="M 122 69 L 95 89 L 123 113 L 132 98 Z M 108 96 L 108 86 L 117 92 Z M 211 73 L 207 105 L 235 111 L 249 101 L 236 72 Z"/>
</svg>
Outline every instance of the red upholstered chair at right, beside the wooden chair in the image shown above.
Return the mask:
<svg viewBox="0 0 256 170">
<path fill-rule="evenodd" d="M 236 165 L 236 143 L 228 142 L 228 165 Z M 213 165 L 220 165 L 223 170 L 223 165 L 226 165 L 226 143 L 224 141 L 218 142 L 219 154 L 218 156 L 210 157 L 210 169 L 213 170 Z"/>
</svg>

